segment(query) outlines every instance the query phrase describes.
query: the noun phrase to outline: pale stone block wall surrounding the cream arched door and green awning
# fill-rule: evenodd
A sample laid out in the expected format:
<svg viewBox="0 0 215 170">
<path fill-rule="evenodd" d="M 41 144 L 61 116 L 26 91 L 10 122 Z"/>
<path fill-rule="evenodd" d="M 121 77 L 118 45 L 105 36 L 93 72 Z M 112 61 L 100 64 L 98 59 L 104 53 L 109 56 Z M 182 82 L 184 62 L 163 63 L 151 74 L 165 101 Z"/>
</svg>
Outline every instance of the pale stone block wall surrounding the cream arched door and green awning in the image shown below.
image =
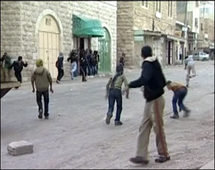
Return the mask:
<svg viewBox="0 0 215 170">
<path fill-rule="evenodd" d="M 3 1 L 1 2 L 1 56 L 23 56 L 29 65 L 23 70 L 23 80 L 29 80 L 38 57 L 38 28 L 45 15 L 51 15 L 60 28 L 60 50 L 65 59 L 73 49 L 72 14 L 99 19 L 111 35 L 112 69 L 116 60 L 116 2 L 99 1 Z M 95 43 L 95 41 L 92 41 Z M 96 45 L 92 45 L 93 47 Z M 69 63 L 65 61 L 65 76 Z"/>
</svg>

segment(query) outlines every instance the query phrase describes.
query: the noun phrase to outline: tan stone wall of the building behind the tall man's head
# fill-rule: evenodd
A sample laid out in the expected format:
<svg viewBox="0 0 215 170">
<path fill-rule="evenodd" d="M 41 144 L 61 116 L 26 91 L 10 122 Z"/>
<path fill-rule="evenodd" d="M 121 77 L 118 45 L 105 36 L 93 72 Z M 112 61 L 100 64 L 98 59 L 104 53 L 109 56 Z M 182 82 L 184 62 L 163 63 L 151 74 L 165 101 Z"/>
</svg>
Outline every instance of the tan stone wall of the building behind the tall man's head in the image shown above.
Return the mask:
<svg viewBox="0 0 215 170">
<path fill-rule="evenodd" d="M 147 1 L 148 7 L 142 5 L 142 1 L 118 1 L 117 7 L 117 54 L 120 56 L 123 49 L 126 49 L 126 65 L 139 66 L 140 47 L 145 43 L 156 46 L 161 40 L 150 37 L 143 37 L 143 41 L 134 41 L 134 30 L 158 31 L 165 35 L 174 35 L 176 21 L 176 2 L 172 1 L 172 16 L 168 16 L 168 1 L 161 1 L 161 18 L 156 17 L 155 1 Z M 151 38 L 151 40 L 150 40 Z M 163 41 L 162 41 L 163 42 Z M 164 42 L 163 42 L 164 43 Z M 164 46 L 164 44 L 163 44 Z M 166 49 L 154 47 L 165 61 Z M 165 49 L 165 50 L 164 50 Z"/>
</svg>

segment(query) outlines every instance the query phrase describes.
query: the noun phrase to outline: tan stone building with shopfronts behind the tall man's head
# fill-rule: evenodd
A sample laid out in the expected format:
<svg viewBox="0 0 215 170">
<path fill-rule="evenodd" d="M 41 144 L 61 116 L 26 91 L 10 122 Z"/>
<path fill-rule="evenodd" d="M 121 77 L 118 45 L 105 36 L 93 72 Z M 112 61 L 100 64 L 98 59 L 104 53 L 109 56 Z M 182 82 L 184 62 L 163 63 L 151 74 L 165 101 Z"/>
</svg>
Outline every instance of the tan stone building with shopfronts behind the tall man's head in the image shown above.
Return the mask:
<svg viewBox="0 0 215 170">
<path fill-rule="evenodd" d="M 140 50 L 150 45 L 162 64 L 174 64 L 176 2 L 118 1 L 117 57 L 126 54 L 126 66 L 139 66 Z"/>
</svg>

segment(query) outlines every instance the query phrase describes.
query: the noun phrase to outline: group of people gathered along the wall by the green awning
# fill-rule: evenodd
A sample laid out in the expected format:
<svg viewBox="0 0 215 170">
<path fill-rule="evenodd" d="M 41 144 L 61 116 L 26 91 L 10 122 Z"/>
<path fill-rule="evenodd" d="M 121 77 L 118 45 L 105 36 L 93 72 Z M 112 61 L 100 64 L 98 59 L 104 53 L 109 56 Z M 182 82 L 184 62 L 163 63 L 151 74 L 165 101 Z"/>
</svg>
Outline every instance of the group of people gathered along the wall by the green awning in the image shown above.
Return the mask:
<svg viewBox="0 0 215 170">
<path fill-rule="evenodd" d="M 59 83 L 64 75 L 63 54 L 60 52 L 56 61 L 58 76 L 56 82 Z M 73 80 L 77 75 L 82 75 L 82 81 L 87 81 L 87 76 L 95 76 L 98 73 L 99 54 L 91 49 L 72 50 L 67 58 L 70 62 L 70 75 Z"/>
</svg>

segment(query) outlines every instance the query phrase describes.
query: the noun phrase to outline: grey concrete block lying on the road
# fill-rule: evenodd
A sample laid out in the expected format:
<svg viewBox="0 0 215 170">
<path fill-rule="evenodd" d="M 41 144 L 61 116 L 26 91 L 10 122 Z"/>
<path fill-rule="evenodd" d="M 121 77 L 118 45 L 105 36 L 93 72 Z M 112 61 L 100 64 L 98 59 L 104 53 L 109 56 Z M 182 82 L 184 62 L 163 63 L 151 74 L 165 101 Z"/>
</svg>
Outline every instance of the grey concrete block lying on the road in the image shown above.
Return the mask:
<svg viewBox="0 0 215 170">
<path fill-rule="evenodd" d="M 13 156 L 33 153 L 33 144 L 24 140 L 11 142 L 8 144 L 7 150 Z"/>
</svg>

